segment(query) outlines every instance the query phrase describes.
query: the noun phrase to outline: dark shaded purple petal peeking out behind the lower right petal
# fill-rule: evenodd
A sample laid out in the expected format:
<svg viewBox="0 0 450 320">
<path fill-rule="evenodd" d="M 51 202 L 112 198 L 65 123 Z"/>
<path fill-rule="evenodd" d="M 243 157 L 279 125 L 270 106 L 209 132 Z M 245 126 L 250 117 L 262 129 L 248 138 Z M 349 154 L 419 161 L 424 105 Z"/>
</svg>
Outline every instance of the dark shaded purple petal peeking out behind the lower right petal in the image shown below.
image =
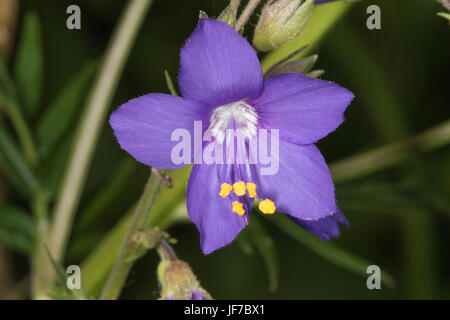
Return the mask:
<svg viewBox="0 0 450 320">
<path fill-rule="evenodd" d="M 348 227 L 348 220 L 339 208 L 335 214 L 320 218 L 317 221 L 305 221 L 296 218 L 292 218 L 292 220 L 294 220 L 303 229 L 314 233 L 324 241 L 328 241 L 331 238 L 337 238 L 339 236 L 339 224 Z"/>
</svg>

